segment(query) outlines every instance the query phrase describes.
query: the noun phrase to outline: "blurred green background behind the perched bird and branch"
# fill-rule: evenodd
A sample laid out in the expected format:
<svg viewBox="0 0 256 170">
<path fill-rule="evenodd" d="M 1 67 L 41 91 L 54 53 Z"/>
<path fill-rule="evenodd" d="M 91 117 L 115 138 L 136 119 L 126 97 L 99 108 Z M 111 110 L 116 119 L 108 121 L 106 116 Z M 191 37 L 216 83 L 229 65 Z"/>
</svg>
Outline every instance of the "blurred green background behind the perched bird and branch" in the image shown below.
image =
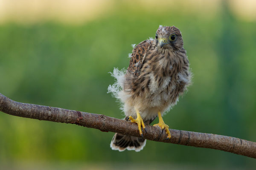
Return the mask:
<svg viewBox="0 0 256 170">
<path fill-rule="evenodd" d="M 122 119 L 108 72 L 159 25 L 180 28 L 193 85 L 164 116 L 173 129 L 256 141 L 256 3 L 252 0 L 2 0 L 0 93 Z M 155 120 L 157 122 L 158 120 Z M 251 158 L 0 113 L 0 169 L 254 169 Z"/>
</svg>

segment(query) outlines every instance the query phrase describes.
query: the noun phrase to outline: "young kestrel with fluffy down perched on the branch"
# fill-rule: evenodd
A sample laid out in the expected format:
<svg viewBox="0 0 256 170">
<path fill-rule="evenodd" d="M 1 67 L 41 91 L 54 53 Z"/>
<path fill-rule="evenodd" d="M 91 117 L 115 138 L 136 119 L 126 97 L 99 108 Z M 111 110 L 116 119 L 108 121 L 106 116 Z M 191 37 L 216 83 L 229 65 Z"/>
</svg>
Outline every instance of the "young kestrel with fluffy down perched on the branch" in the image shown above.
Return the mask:
<svg viewBox="0 0 256 170">
<path fill-rule="evenodd" d="M 121 101 L 125 120 L 138 124 L 142 138 L 116 133 L 111 148 L 142 150 L 146 144 L 142 127 L 146 131 L 145 125 L 157 116 L 159 123 L 154 126 L 165 129 L 167 138 L 171 138 L 163 113 L 177 103 L 191 79 L 180 30 L 175 26 L 160 26 L 154 40 L 140 42 L 133 49 L 127 71 L 115 68 L 112 76 L 116 82 L 108 87 L 108 92 Z"/>
</svg>

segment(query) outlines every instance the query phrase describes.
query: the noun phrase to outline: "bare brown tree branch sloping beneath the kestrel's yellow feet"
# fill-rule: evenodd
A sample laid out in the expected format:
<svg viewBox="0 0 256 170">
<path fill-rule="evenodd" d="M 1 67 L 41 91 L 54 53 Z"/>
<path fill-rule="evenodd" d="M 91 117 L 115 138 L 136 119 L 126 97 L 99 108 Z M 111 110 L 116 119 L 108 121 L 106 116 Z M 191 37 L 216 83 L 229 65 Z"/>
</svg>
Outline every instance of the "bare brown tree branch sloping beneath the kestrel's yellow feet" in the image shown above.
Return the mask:
<svg viewBox="0 0 256 170">
<path fill-rule="evenodd" d="M 105 132 L 111 131 L 140 137 L 137 125 L 126 122 L 125 120 L 100 114 L 15 102 L 3 94 L 0 94 L 0 111 L 14 116 L 52 122 L 72 123 Z M 170 129 L 172 135 L 171 139 L 166 140 L 166 134 L 161 134 L 159 128 L 153 126 L 146 126 L 146 128 L 147 133 L 143 133 L 143 137 L 148 140 L 211 148 L 256 158 L 256 142 L 229 136 L 174 129 Z"/>
</svg>

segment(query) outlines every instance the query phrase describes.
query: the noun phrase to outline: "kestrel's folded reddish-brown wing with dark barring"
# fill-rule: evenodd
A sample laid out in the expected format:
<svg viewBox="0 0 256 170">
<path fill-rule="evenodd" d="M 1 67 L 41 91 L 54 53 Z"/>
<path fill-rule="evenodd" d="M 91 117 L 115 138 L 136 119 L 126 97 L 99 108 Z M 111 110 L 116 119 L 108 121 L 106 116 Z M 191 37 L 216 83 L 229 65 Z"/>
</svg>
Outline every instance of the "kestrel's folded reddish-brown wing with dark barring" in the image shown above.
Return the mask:
<svg viewBox="0 0 256 170">
<path fill-rule="evenodd" d="M 143 42 L 140 42 L 140 44 L 136 45 L 136 47 L 132 51 L 130 64 L 127 71 L 136 76 L 140 74 L 140 68 L 143 65 L 145 55 L 150 48 L 152 42 L 153 41 L 151 40 L 145 40 Z"/>
</svg>

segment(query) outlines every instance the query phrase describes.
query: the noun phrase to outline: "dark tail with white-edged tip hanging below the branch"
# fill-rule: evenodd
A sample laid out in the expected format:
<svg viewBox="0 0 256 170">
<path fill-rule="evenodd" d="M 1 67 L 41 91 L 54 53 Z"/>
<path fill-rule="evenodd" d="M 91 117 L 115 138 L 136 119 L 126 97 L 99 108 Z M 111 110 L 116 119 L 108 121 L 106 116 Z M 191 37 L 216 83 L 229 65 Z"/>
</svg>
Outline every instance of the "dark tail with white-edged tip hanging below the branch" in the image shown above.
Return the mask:
<svg viewBox="0 0 256 170">
<path fill-rule="evenodd" d="M 135 150 L 136 152 L 139 152 L 140 150 L 143 149 L 145 144 L 146 144 L 146 139 L 116 133 L 113 136 L 110 147 L 113 150 L 119 150 L 120 152 L 124 151 L 125 149 Z"/>
</svg>

